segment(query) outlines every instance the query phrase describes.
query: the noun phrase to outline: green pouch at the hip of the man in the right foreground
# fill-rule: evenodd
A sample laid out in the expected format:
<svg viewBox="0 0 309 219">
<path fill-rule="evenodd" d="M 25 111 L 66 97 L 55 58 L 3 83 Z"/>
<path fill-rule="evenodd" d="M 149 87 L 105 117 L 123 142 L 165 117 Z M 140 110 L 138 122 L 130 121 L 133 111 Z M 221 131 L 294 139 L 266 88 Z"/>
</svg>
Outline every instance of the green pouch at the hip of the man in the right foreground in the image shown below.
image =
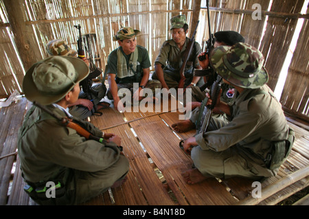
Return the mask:
<svg viewBox="0 0 309 219">
<path fill-rule="evenodd" d="M 287 159 L 290 151 L 292 150 L 293 143 L 295 140 L 295 132 L 289 127 L 288 130 L 288 139 L 272 142 L 271 152 L 268 153 L 266 157 L 266 166 L 270 170 L 279 168 Z"/>
</svg>

